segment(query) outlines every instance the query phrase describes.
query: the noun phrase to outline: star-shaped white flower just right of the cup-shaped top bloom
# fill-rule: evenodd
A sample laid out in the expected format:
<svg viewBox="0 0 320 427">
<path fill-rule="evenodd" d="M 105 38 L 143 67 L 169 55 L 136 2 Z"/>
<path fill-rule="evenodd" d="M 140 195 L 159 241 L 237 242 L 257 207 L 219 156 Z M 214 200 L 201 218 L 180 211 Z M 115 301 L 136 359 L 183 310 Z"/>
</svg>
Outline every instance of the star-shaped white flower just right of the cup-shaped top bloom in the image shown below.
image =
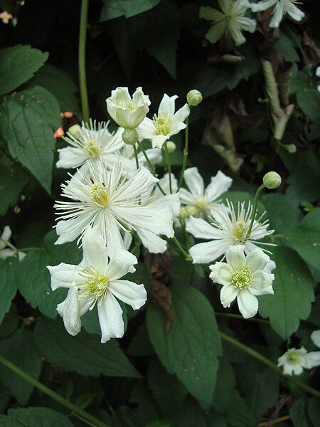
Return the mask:
<svg viewBox="0 0 320 427">
<path fill-rule="evenodd" d="M 185 104 L 175 112 L 177 97 L 176 95 L 169 97 L 165 93 L 160 102 L 158 114 L 155 114 L 152 120 L 146 117 L 138 127 L 139 137 L 151 139 L 152 147 L 161 148 L 172 135 L 186 128 L 184 121 L 190 114 L 190 109 L 188 104 Z"/>
</svg>

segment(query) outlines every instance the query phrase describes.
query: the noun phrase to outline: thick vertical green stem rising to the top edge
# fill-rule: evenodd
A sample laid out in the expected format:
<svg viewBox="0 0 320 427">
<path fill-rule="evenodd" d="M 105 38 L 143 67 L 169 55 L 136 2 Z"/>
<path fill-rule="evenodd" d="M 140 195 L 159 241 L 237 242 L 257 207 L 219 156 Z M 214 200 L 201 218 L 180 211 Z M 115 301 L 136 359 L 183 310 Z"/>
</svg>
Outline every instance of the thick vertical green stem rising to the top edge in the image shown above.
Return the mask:
<svg viewBox="0 0 320 427">
<path fill-rule="evenodd" d="M 85 123 L 89 123 L 89 101 L 87 98 L 87 76 L 85 71 L 85 45 L 87 39 L 87 9 L 89 0 L 82 0 L 80 11 L 80 30 L 79 30 L 79 50 L 78 50 L 78 67 L 79 67 L 79 83 L 80 97 L 82 107 L 82 119 Z"/>
</svg>

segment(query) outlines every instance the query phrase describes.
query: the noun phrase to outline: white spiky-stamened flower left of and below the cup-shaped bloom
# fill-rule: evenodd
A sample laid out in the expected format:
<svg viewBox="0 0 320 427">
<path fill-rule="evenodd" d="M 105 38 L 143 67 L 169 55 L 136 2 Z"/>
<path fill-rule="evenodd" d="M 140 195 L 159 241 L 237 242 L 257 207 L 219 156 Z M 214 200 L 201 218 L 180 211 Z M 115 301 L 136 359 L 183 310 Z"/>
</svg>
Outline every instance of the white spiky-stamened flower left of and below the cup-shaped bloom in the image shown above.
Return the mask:
<svg viewBox="0 0 320 427">
<path fill-rule="evenodd" d="M 112 167 L 117 151 L 124 145 L 122 141 L 123 129 L 119 127 L 117 132 L 112 134 L 108 130 L 109 122 L 92 122 L 90 125 L 78 127 L 77 135 L 73 136 L 67 132 L 67 137 L 63 139 L 71 147 L 58 149 L 59 161 L 57 167 L 66 169 L 80 167 L 85 162 L 97 162 L 102 159 L 110 168 Z"/>
</svg>

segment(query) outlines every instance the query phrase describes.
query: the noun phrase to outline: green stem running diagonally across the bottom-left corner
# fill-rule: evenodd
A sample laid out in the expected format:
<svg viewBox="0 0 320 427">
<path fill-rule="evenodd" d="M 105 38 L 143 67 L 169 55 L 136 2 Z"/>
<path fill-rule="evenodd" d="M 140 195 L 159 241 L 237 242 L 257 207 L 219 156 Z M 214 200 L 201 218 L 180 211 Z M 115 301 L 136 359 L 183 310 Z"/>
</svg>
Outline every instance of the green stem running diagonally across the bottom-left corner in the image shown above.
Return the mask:
<svg viewBox="0 0 320 427">
<path fill-rule="evenodd" d="M 15 364 L 9 362 L 8 359 L 5 359 L 1 355 L 0 355 L 0 363 L 4 364 L 5 367 L 11 369 L 11 371 L 13 371 L 15 374 L 17 374 L 18 376 L 21 376 L 22 379 L 32 384 L 43 393 L 50 396 L 59 404 L 65 406 L 66 408 L 69 408 L 70 411 L 73 411 L 73 413 L 75 413 L 76 416 L 79 416 L 82 419 L 82 421 L 87 422 L 90 426 L 108 427 L 106 423 L 102 423 L 102 421 L 95 418 L 95 416 L 92 416 L 90 413 L 87 413 L 86 411 L 83 411 L 83 409 L 78 408 L 78 406 L 75 406 L 72 402 L 68 401 L 67 399 L 64 399 L 63 396 L 60 396 L 60 394 L 55 393 L 55 391 L 49 389 L 40 381 L 37 381 L 36 379 L 34 379 L 33 376 L 28 375 L 25 371 L 18 368 Z"/>
</svg>

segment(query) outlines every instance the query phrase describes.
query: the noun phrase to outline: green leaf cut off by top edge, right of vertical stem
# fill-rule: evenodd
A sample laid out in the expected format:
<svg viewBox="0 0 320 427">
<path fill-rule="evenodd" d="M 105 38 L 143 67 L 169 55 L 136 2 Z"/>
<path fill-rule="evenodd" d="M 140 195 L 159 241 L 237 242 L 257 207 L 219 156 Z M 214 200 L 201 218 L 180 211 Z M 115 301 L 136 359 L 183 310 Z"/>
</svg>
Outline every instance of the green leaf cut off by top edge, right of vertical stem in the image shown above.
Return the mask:
<svg viewBox="0 0 320 427">
<path fill-rule="evenodd" d="M 159 4 L 160 0 L 103 0 L 100 22 L 118 18 L 126 18 L 142 14 Z"/>
</svg>

